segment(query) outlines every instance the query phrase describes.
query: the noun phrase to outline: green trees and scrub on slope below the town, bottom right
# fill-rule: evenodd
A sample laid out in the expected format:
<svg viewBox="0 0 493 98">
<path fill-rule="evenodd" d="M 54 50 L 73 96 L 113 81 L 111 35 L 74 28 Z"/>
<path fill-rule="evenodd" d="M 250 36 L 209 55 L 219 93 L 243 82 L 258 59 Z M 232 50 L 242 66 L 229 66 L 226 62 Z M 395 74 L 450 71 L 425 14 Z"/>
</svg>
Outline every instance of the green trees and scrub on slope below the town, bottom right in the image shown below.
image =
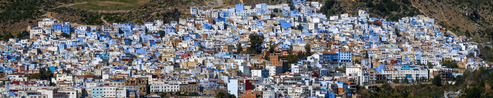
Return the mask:
<svg viewBox="0 0 493 98">
<path fill-rule="evenodd" d="M 493 97 L 493 70 L 480 68 L 475 71 L 464 71 L 463 75 L 455 78 L 455 84 L 440 82 L 438 78 L 431 78 L 432 83 L 417 84 L 384 84 L 371 92 L 359 88 L 358 94 L 362 98 L 441 98 L 444 92 L 461 92 L 460 98 L 492 98 Z"/>
</svg>

